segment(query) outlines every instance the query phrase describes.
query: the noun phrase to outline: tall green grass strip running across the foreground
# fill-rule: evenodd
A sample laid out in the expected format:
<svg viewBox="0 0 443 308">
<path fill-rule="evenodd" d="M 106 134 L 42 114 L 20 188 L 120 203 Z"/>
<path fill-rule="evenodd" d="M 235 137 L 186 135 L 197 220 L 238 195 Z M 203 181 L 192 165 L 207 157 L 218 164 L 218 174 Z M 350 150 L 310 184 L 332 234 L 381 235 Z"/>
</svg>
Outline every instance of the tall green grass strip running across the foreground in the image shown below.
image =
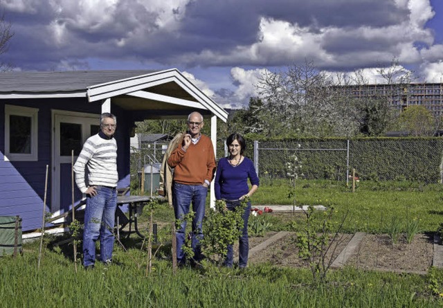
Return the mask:
<svg viewBox="0 0 443 308">
<path fill-rule="evenodd" d="M 154 262 L 145 277 L 145 253 L 116 248 L 108 268 L 75 273 L 63 253 L 44 250 L 37 270 L 38 244 L 25 253 L 0 258 L 0 307 L 439 307 L 443 301 L 428 290 L 433 276 L 377 273 L 346 268 L 332 271 L 324 284 L 313 285 L 307 269 L 268 264 L 246 271 L 179 269 L 169 260 Z M 130 255 L 130 257 L 129 257 Z M 141 267 L 136 265 L 140 262 Z"/>
</svg>

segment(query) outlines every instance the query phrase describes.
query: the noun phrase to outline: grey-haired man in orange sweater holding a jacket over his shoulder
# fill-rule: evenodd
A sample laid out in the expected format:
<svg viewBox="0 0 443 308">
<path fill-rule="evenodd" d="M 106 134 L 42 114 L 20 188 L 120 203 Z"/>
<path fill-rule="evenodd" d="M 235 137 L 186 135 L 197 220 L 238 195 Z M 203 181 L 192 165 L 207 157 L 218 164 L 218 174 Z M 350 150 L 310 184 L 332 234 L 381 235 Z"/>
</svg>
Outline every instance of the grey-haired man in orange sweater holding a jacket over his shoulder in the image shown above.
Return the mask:
<svg viewBox="0 0 443 308">
<path fill-rule="evenodd" d="M 188 116 L 188 132 L 183 136 L 181 145 L 174 150 L 169 158 L 168 165 L 174 168 L 174 184 L 172 203 L 175 219 L 183 219 L 188 214 L 190 204 L 195 217 L 192 219 L 192 261 L 200 262 L 203 259 L 199 240 L 203 238 L 201 223 L 205 216 L 206 196 L 210 181 L 215 174 L 215 154 L 213 143 L 208 136 L 201 134 L 203 116 L 192 112 Z M 177 262 L 186 264 L 186 256 L 181 248 L 185 243 L 186 221 L 181 223 L 176 232 Z"/>
</svg>

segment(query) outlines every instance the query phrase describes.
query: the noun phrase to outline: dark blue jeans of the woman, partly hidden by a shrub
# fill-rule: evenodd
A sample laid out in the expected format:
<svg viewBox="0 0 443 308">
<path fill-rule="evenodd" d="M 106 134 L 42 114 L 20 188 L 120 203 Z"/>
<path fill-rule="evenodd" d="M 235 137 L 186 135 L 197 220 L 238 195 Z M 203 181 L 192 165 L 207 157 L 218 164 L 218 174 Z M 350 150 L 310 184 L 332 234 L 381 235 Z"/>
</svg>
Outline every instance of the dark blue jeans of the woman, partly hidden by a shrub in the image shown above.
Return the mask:
<svg viewBox="0 0 443 308">
<path fill-rule="evenodd" d="M 226 201 L 226 207 L 228 210 L 235 210 L 237 206 L 241 206 L 240 201 Z M 248 253 L 249 253 L 249 239 L 248 239 L 248 219 L 249 214 L 251 214 L 251 202 L 248 202 L 248 206 L 244 209 L 243 212 L 243 228 L 242 235 L 239 236 L 239 260 L 238 266 L 239 268 L 246 267 L 248 264 Z M 234 259 L 234 250 L 233 245 L 228 245 L 228 253 L 226 253 L 226 258 L 224 260 L 224 266 L 232 267 Z"/>
</svg>

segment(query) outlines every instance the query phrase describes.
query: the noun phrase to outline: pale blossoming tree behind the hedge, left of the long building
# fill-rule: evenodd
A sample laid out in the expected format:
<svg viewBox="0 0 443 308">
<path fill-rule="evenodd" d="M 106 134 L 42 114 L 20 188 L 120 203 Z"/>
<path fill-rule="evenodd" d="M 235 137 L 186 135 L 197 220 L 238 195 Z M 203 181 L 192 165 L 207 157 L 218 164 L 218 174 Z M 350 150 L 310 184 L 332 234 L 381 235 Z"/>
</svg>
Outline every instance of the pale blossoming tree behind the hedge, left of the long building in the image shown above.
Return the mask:
<svg viewBox="0 0 443 308">
<path fill-rule="evenodd" d="M 338 80 L 347 82 L 344 75 Z M 354 106 L 336 91 L 336 85 L 332 75 L 305 61 L 264 75 L 256 86 L 266 123 L 277 127 L 277 135 L 350 136 L 356 130 Z"/>
</svg>

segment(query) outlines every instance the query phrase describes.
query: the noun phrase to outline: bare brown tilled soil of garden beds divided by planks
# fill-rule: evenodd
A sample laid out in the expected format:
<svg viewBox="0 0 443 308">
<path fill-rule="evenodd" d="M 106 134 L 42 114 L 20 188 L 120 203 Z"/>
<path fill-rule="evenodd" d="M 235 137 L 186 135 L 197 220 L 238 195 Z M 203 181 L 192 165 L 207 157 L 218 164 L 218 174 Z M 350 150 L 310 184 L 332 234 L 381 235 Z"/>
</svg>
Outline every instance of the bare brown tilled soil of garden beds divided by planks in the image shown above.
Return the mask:
<svg viewBox="0 0 443 308">
<path fill-rule="evenodd" d="M 251 237 L 250 249 L 274 235 L 267 233 L 266 237 Z M 353 235 L 338 235 L 327 253 L 326 262 L 335 260 L 350 242 Z M 250 255 L 250 264 L 269 262 L 277 266 L 307 267 L 307 261 L 298 257 L 296 235 L 289 235 L 264 248 L 262 251 Z M 237 245 L 235 245 L 237 251 Z M 386 271 L 427 271 L 433 262 L 433 239 L 429 235 L 415 235 L 413 242 L 407 244 L 399 239 L 392 245 L 388 235 L 366 234 L 359 246 L 355 249 L 346 266 L 355 266 L 359 269 L 376 269 Z"/>
</svg>

